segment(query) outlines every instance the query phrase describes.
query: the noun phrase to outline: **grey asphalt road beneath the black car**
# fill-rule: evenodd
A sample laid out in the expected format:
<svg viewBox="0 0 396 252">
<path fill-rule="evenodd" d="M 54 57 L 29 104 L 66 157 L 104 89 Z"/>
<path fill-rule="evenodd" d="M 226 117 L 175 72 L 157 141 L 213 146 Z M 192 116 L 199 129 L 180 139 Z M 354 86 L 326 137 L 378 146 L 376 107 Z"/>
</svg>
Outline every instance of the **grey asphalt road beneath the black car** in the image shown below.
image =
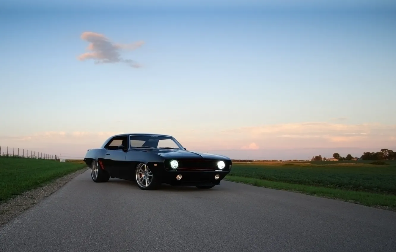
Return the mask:
<svg viewBox="0 0 396 252">
<path fill-rule="evenodd" d="M 396 251 L 396 213 L 222 181 L 143 191 L 79 175 L 0 229 L 0 251 Z"/>
</svg>

